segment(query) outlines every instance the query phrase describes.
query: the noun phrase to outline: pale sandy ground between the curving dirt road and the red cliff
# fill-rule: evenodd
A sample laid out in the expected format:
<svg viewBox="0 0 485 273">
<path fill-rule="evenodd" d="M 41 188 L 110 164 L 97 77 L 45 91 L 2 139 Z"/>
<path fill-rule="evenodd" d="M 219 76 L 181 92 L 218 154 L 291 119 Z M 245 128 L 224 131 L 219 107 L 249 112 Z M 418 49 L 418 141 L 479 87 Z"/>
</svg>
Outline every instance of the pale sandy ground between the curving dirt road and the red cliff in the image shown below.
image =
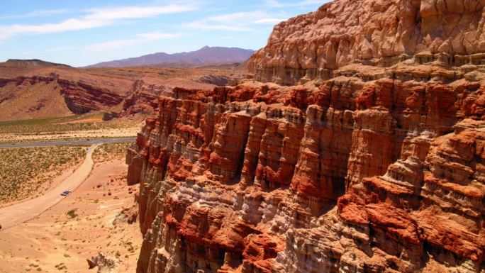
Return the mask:
<svg viewBox="0 0 485 273">
<path fill-rule="evenodd" d="M 126 186 L 126 168 L 123 160 L 95 165 L 84 184 L 60 203 L 0 231 L 0 272 L 96 272 L 88 270 L 86 259 L 98 252 L 112 257 L 118 252 L 118 272 L 135 272 L 142 240 L 138 223 L 113 225 L 123 207 L 133 206 L 135 186 Z M 77 216 L 70 218 L 70 210 Z M 57 269 L 61 263 L 67 268 Z"/>
</svg>

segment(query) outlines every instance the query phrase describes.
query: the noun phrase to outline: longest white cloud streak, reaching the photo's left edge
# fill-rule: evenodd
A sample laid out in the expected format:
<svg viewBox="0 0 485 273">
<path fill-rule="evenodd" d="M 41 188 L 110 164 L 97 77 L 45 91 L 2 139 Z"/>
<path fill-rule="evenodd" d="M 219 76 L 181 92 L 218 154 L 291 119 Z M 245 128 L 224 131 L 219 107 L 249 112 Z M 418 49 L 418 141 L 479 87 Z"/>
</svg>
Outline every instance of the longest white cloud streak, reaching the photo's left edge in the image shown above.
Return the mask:
<svg viewBox="0 0 485 273">
<path fill-rule="evenodd" d="M 59 23 L 45 23 L 40 25 L 0 26 L 0 40 L 5 40 L 15 35 L 57 33 L 69 30 L 82 30 L 110 26 L 120 19 L 148 18 L 167 13 L 181 13 L 193 11 L 194 5 L 170 4 L 167 6 L 123 6 L 116 8 L 89 9 L 87 15 L 81 18 L 70 18 Z"/>
</svg>

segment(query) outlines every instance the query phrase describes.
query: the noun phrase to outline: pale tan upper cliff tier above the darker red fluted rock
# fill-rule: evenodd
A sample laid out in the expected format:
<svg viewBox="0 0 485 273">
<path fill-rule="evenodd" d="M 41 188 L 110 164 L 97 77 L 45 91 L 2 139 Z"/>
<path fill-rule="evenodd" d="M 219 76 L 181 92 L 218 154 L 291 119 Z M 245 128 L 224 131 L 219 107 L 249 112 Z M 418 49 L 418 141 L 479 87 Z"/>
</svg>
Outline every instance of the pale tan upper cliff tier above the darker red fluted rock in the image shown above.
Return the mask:
<svg viewBox="0 0 485 273">
<path fill-rule="evenodd" d="M 484 65 L 484 0 L 335 0 L 274 27 L 249 61 L 260 82 L 329 79 L 349 63 Z"/>
</svg>

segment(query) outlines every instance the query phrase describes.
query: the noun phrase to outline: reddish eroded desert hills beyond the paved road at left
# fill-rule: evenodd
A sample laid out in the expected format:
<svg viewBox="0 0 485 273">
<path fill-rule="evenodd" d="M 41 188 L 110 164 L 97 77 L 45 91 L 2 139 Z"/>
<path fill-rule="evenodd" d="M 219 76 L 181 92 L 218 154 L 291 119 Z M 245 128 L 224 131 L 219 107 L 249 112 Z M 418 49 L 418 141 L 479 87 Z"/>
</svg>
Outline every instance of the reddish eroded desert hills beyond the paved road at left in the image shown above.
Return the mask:
<svg viewBox="0 0 485 273">
<path fill-rule="evenodd" d="M 234 67 L 79 69 L 41 60 L 9 60 L 0 63 L 0 121 L 91 111 L 116 116 L 152 113 L 163 91 L 213 89 L 244 77 Z"/>
</svg>

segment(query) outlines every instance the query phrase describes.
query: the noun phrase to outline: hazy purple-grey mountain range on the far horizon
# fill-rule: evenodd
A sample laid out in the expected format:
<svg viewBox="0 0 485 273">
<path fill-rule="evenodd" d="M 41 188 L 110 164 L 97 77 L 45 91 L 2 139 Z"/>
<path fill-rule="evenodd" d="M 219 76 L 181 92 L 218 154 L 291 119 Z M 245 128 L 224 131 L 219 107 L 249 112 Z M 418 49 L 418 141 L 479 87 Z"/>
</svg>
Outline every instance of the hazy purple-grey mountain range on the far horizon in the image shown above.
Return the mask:
<svg viewBox="0 0 485 273">
<path fill-rule="evenodd" d="M 192 52 L 167 54 L 164 52 L 143 55 L 111 62 L 100 62 L 88 67 L 202 67 L 208 65 L 245 62 L 255 50 L 242 48 L 204 47 Z"/>
</svg>

